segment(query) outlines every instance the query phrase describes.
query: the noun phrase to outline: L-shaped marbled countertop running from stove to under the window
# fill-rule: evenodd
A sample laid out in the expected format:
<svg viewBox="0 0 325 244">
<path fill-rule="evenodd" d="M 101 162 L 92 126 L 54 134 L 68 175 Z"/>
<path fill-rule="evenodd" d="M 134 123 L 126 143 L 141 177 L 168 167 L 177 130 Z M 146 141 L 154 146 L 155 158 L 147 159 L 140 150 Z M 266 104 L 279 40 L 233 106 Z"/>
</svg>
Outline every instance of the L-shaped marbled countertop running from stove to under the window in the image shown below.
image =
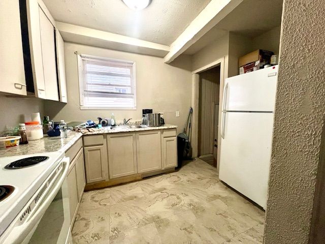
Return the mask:
<svg viewBox="0 0 325 244">
<path fill-rule="evenodd" d="M 125 133 L 125 132 L 135 132 L 135 131 L 151 131 L 151 130 L 166 130 L 166 129 L 176 129 L 177 126 L 164 125 L 159 127 L 146 127 L 146 128 L 118 128 L 110 129 L 103 128 L 103 130 L 80 133 L 71 131 L 68 133 L 68 138 L 61 139 L 59 136 L 49 137 L 44 136 L 44 138 L 36 141 L 29 141 L 26 145 L 19 145 L 18 147 L 10 149 L 0 149 L 0 158 L 28 155 L 28 154 L 39 154 L 39 153 L 49 153 L 51 151 L 67 151 L 75 142 L 81 138 L 83 135 L 98 135 L 98 134 L 110 134 L 110 133 Z"/>
</svg>

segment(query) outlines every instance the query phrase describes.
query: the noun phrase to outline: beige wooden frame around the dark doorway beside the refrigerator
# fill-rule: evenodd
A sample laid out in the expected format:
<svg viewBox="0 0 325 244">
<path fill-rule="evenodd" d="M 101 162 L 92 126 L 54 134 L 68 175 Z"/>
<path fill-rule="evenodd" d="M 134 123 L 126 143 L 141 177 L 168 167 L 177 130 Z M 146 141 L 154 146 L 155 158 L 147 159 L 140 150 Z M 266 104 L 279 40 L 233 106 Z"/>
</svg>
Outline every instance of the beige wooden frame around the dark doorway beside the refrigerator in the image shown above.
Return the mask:
<svg viewBox="0 0 325 244">
<path fill-rule="evenodd" d="M 193 108 L 193 120 L 192 120 L 192 157 L 198 157 L 199 152 L 199 90 L 200 90 L 200 73 L 216 66 L 220 66 L 220 86 L 219 86 L 219 120 L 218 120 L 218 151 L 217 151 L 217 172 L 219 172 L 220 162 L 220 146 L 221 146 L 221 134 L 220 134 L 220 121 L 221 121 L 221 110 L 220 105 L 222 104 L 223 97 L 223 84 L 224 79 L 228 77 L 228 67 L 225 67 L 225 61 L 228 56 L 221 57 L 214 62 L 203 66 L 197 70 L 192 71 L 192 83 L 191 83 L 191 106 Z"/>
</svg>

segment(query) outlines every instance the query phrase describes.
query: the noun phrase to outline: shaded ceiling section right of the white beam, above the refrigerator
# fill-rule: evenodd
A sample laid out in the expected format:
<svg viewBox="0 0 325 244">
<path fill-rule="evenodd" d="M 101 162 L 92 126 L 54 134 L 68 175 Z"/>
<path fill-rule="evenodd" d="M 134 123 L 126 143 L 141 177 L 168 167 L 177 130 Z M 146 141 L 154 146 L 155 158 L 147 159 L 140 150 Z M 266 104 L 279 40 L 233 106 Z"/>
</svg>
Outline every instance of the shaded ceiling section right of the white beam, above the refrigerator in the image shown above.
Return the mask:
<svg viewBox="0 0 325 244">
<path fill-rule="evenodd" d="M 226 32 L 257 37 L 281 24 L 283 0 L 244 0 L 224 17 L 199 41 L 190 46 L 185 54 L 193 54 L 216 41 Z"/>
</svg>

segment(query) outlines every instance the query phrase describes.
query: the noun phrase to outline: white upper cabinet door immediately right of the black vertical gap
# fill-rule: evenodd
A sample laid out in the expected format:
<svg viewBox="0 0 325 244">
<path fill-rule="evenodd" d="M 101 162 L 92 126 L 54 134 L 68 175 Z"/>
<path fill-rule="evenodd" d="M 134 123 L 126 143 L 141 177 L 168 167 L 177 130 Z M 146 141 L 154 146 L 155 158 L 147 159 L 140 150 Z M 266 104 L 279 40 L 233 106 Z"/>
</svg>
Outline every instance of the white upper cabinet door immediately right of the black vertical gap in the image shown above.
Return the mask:
<svg viewBox="0 0 325 244">
<path fill-rule="evenodd" d="M 30 48 L 30 59 L 32 68 L 32 77 L 34 79 L 35 96 L 37 98 L 46 99 L 42 45 L 40 37 L 40 13 L 37 0 L 27 0 L 27 22 L 28 22 L 28 38 Z"/>
</svg>

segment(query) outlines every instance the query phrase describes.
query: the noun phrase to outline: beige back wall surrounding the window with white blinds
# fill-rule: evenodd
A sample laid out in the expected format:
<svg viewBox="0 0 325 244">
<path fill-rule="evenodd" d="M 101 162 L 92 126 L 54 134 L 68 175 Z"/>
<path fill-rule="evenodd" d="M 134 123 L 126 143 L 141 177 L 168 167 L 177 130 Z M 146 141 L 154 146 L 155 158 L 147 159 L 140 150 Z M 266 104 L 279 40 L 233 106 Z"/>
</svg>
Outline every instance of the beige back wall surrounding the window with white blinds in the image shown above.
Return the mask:
<svg viewBox="0 0 325 244">
<path fill-rule="evenodd" d="M 180 56 L 172 66 L 164 63 L 163 58 L 127 53 L 98 47 L 65 43 L 66 77 L 68 104 L 47 101 L 45 110 L 54 120 L 78 121 L 97 117 L 142 118 L 143 108 L 152 108 L 154 112 L 164 112 L 165 123 L 174 124 L 179 131 L 185 124 L 190 106 L 191 95 L 191 59 Z M 75 51 L 83 54 L 132 60 L 137 69 L 137 110 L 80 110 L 77 56 Z M 175 112 L 180 116 L 176 117 Z"/>
</svg>

